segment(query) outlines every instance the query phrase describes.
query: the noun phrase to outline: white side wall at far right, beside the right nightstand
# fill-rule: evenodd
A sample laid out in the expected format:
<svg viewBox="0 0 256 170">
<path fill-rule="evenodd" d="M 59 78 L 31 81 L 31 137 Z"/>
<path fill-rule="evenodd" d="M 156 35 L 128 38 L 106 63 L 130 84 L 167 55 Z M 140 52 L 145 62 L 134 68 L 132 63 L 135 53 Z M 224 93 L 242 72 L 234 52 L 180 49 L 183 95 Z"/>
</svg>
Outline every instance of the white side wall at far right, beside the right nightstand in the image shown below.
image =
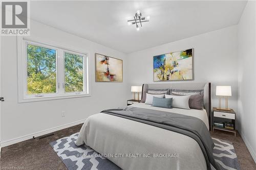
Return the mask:
<svg viewBox="0 0 256 170">
<path fill-rule="evenodd" d="M 238 25 L 239 131 L 256 162 L 256 3 L 249 1 Z"/>
</svg>

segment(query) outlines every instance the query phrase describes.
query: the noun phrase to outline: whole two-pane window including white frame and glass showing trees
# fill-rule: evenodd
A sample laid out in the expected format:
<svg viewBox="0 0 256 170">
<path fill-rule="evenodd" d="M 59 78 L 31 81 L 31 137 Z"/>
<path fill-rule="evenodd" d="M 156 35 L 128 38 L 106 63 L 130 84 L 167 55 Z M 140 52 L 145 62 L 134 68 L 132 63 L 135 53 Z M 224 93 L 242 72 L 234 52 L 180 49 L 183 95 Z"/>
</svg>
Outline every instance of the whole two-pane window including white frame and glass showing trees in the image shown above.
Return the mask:
<svg viewBox="0 0 256 170">
<path fill-rule="evenodd" d="M 18 38 L 19 102 L 89 96 L 88 53 Z"/>
</svg>

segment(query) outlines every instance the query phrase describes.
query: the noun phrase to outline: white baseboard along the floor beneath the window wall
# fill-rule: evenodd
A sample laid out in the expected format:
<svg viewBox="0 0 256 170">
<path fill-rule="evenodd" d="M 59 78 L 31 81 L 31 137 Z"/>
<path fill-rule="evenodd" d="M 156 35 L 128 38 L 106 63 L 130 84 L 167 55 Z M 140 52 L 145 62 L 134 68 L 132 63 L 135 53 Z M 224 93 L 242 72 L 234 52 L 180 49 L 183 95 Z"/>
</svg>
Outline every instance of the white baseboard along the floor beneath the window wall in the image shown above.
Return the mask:
<svg viewBox="0 0 256 170">
<path fill-rule="evenodd" d="M 32 134 L 29 134 L 29 135 L 20 136 L 20 137 L 14 138 L 14 139 L 6 140 L 6 141 L 1 141 L 0 145 L 1 145 L 2 148 L 7 147 L 8 145 L 11 145 L 11 144 L 15 144 L 15 143 L 18 143 L 18 142 L 21 142 L 21 141 L 32 139 L 33 136 L 38 137 L 38 136 L 46 135 L 48 133 L 52 133 L 52 132 L 55 132 L 55 131 L 58 131 L 58 130 L 61 130 L 61 129 L 69 128 L 71 126 L 82 124 L 82 123 L 84 123 L 85 120 L 86 119 L 82 119 L 82 120 L 78 120 L 78 121 L 73 122 L 73 123 L 69 123 L 69 124 L 58 126 L 58 127 L 50 128 L 50 129 L 47 129 L 47 130 L 44 130 L 44 131 L 32 133 Z"/>
</svg>

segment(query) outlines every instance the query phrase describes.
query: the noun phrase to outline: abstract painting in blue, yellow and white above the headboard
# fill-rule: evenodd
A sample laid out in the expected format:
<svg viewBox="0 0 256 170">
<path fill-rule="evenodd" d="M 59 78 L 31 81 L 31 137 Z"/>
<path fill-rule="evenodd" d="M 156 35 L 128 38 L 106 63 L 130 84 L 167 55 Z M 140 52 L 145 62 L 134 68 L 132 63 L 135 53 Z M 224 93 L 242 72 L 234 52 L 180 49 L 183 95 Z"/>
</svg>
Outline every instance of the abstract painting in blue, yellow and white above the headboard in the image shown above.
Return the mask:
<svg viewBox="0 0 256 170">
<path fill-rule="evenodd" d="M 154 82 L 193 80 L 193 48 L 154 56 Z"/>
</svg>

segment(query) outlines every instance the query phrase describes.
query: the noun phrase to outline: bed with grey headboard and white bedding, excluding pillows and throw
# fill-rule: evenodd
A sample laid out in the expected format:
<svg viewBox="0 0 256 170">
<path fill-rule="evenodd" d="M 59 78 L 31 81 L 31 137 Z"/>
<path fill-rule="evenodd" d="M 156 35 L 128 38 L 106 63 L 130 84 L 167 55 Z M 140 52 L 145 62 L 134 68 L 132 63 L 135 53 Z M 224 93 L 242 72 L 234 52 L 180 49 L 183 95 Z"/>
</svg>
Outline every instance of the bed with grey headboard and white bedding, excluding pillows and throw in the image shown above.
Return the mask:
<svg viewBox="0 0 256 170">
<path fill-rule="evenodd" d="M 143 94 L 148 89 L 203 90 L 204 109 L 166 109 L 144 103 L 133 104 L 127 110 L 144 109 L 152 113 L 173 113 L 191 116 L 209 130 L 210 83 L 143 84 Z M 208 135 L 208 134 L 207 134 Z M 215 169 L 207 163 L 202 145 L 188 135 L 159 128 L 112 114 L 94 114 L 83 124 L 76 145 L 85 143 L 122 169 Z"/>
</svg>

